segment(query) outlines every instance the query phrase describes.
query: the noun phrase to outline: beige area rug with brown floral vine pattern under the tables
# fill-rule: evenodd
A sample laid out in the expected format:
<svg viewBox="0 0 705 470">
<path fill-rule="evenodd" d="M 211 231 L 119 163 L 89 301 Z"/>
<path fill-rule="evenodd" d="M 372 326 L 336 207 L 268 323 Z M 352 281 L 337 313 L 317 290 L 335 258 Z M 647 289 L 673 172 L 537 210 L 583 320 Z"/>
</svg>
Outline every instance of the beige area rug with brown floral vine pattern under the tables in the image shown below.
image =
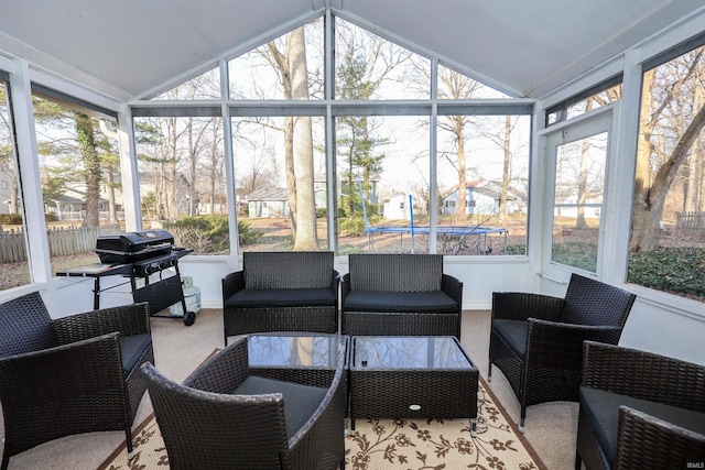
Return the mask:
<svg viewBox="0 0 705 470">
<path fill-rule="evenodd" d="M 469 419 L 357 419 L 356 436 L 345 438 L 346 469 L 351 470 L 532 470 L 545 469 L 516 425 L 480 379 L 477 436 Z M 134 431 L 135 457 L 128 462 L 120 446 L 100 470 L 169 468 L 154 416 Z"/>
</svg>

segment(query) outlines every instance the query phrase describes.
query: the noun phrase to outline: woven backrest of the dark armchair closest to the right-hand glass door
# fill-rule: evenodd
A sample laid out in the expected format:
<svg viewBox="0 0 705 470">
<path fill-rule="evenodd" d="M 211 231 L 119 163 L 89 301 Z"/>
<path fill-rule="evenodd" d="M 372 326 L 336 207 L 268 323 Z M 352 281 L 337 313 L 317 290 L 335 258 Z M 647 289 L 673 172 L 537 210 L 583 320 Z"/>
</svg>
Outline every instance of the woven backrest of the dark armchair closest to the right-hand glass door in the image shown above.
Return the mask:
<svg viewBox="0 0 705 470">
<path fill-rule="evenodd" d="M 571 276 L 561 321 L 592 326 L 623 326 L 633 294 L 578 274 Z"/>
</svg>

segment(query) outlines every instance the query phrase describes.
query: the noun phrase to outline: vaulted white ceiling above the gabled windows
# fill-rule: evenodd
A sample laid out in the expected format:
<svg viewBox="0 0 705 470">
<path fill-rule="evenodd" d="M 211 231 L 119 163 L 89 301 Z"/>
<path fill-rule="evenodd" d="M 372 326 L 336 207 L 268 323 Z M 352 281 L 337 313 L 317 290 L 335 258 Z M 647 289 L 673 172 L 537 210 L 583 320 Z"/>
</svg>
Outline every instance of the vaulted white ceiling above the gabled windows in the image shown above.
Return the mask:
<svg viewBox="0 0 705 470">
<path fill-rule="evenodd" d="M 0 0 L 0 52 L 119 100 L 335 14 L 539 98 L 702 11 L 702 0 Z"/>
</svg>

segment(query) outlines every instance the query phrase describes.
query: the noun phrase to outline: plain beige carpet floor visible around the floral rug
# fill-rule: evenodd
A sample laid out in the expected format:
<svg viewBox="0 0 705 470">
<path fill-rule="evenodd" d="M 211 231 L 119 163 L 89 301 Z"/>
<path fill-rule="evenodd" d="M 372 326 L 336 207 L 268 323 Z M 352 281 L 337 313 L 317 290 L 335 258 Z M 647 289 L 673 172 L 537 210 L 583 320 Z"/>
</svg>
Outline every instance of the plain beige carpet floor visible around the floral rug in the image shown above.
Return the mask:
<svg viewBox="0 0 705 470">
<path fill-rule="evenodd" d="M 462 342 L 482 378 L 487 378 L 490 314 L 487 310 L 467 310 L 463 315 Z M 224 346 L 223 313 L 220 309 L 204 309 L 196 323 L 185 327 L 178 319 L 152 318 L 152 335 L 156 367 L 173 380 L 184 380 L 215 348 Z M 488 391 L 507 413 L 509 420 L 519 416 L 519 403 L 501 374 L 496 370 Z M 147 420 L 152 413 L 149 396 L 134 420 L 133 429 Z M 358 430 L 359 426 L 358 424 Z M 1 424 L 0 424 L 1 426 Z M 529 407 L 527 431 L 523 438 L 535 450 L 549 470 L 566 470 L 574 467 L 575 436 L 577 429 L 576 403 L 546 403 Z M 0 436 L 4 433 L 0 427 Z M 371 436 L 371 435 L 370 435 Z M 10 459 L 10 470 L 21 469 L 98 469 L 124 441 L 121 431 L 90 433 L 67 436 L 43 444 Z M 415 457 L 412 457 L 415 458 Z M 416 464 L 414 462 L 414 464 Z M 389 464 L 382 468 L 420 468 L 410 464 Z M 433 468 L 433 467 L 430 467 Z M 445 467 L 446 470 L 460 467 Z M 488 468 L 491 468 L 488 466 Z M 501 467 L 495 467 L 501 468 Z M 373 470 L 373 467 L 368 467 Z"/>
</svg>

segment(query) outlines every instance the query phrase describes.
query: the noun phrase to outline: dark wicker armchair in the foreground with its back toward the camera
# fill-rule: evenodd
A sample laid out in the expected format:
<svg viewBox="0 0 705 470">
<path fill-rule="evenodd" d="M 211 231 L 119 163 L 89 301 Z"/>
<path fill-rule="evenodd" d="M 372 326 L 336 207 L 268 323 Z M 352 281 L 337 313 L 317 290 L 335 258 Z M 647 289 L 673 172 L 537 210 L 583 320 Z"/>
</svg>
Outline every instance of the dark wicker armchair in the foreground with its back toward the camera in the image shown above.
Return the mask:
<svg viewBox="0 0 705 470">
<path fill-rule="evenodd" d="M 326 387 L 250 374 L 240 337 L 183 384 L 143 370 L 172 469 L 336 469 L 345 463 L 346 370 Z M 305 374 L 301 379 L 316 376 Z"/>
</svg>

